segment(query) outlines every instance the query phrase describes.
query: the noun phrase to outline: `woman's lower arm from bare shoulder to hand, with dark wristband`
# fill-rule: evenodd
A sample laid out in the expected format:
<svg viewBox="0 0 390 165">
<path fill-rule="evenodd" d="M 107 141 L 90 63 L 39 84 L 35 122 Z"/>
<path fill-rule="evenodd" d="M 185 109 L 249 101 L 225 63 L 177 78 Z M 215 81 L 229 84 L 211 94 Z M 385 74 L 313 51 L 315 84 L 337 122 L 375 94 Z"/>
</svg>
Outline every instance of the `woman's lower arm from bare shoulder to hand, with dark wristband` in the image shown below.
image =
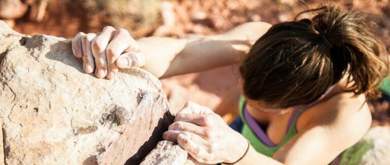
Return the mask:
<svg viewBox="0 0 390 165">
<path fill-rule="evenodd" d="M 273 158 L 256 152 L 220 116 L 193 103 L 177 113 L 176 122 L 164 133 L 164 139 L 179 143 L 203 163 L 239 160 L 237 164 L 327 164 L 359 141 L 370 127 L 371 114 L 364 103 L 365 97 L 350 96 L 340 94 L 321 103 L 332 115 L 313 120 L 285 143 Z"/>
</svg>

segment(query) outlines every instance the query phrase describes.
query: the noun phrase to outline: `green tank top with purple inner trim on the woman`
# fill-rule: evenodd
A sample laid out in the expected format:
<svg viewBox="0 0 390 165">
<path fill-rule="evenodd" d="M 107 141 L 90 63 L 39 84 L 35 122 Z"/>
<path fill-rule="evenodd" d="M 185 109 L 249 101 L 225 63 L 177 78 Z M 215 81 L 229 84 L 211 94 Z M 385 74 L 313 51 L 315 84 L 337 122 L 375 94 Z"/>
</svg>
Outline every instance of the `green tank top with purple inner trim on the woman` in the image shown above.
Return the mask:
<svg viewBox="0 0 390 165">
<path fill-rule="evenodd" d="M 297 131 L 296 131 L 297 118 L 298 118 L 299 114 L 304 109 L 307 109 L 306 107 L 301 107 L 299 109 L 296 109 L 296 111 L 291 115 L 290 120 L 292 120 L 292 122 L 289 123 L 290 127 L 287 128 L 287 133 L 286 133 L 284 139 L 282 140 L 282 142 L 278 145 L 270 146 L 270 145 L 267 145 L 261 138 L 259 138 L 258 135 L 256 135 L 253 128 L 251 128 L 248 125 L 248 121 L 247 121 L 246 117 L 244 117 L 244 113 L 246 113 L 246 112 L 244 112 L 244 109 L 245 109 L 245 107 L 244 107 L 245 106 L 245 98 L 244 97 L 240 98 L 239 105 L 240 105 L 240 117 L 241 117 L 241 120 L 243 121 L 243 127 L 241 130 L 241 134 L 246 139 L 248 139 L 250 144 L 253 146 L 253 148 L 257 152 L 262 153 L 262 154 L 267 155 L 267 156 L 270 156 L 270 157 L 272 157 L 275 154 L 275 152 L 278 151 L 278 149 L 281 146 L 283 146 L 284 143 L 286 143 L 288 140 L 290 140 L 291 138 L 293 138 L 297 134 Z M 268 139 L 268 136 L 266 138 Z"/>
</svg>

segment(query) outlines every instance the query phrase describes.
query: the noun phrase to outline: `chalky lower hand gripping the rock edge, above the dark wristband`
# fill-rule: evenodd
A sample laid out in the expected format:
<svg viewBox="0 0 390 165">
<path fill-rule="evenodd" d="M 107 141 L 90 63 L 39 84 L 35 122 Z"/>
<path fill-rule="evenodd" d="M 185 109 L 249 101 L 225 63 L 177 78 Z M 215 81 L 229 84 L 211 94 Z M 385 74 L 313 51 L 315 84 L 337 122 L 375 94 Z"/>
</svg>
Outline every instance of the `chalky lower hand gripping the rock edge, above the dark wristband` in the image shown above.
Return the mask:
<svg viewBox="0 0 390 165">
<path fill-rule="evenodd" d="M 202 163 L 232 163 L 248 148 L 247 140 L 207 107 L 188 102 L 164 133 L 165 140 L 180 144 Z"/>
</svg>

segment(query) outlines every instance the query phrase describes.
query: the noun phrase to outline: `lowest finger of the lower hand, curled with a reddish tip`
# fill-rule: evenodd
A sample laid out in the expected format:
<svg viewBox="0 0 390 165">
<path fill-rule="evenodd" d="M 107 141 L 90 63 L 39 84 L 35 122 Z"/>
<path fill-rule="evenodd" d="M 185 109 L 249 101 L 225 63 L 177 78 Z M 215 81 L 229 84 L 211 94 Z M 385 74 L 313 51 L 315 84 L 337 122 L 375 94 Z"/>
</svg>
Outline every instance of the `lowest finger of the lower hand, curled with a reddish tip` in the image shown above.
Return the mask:
<svg viewBox="0 0 390 165">
<path fill-rule="evenodd" d="M 209 159 L 209 153 L 199 144 L 195 143 L 192 137 L 194 136 L 192 136 L 191 133 L 181 133 L 177 136 L 177 143 L 194 159 L 203 163 L 207 162 Z"/>
</svg>

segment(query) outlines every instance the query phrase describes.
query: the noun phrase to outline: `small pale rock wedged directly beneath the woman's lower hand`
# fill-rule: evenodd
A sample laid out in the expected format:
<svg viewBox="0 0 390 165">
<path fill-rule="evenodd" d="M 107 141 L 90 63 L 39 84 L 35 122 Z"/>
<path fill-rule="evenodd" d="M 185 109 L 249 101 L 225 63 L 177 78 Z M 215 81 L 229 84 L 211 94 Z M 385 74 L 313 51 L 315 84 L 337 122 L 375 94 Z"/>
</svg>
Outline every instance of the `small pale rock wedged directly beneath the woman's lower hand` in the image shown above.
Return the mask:
<svg viewBox="0 0 390 165">
<path fill-rule="evenodd" d="M 141 165 L 148 164 L 172 164 L 181 165 L 187 160 L 187 151 L 170 141 L 158 142 L 156 148 L 150 152 Z"/>
</svg>

